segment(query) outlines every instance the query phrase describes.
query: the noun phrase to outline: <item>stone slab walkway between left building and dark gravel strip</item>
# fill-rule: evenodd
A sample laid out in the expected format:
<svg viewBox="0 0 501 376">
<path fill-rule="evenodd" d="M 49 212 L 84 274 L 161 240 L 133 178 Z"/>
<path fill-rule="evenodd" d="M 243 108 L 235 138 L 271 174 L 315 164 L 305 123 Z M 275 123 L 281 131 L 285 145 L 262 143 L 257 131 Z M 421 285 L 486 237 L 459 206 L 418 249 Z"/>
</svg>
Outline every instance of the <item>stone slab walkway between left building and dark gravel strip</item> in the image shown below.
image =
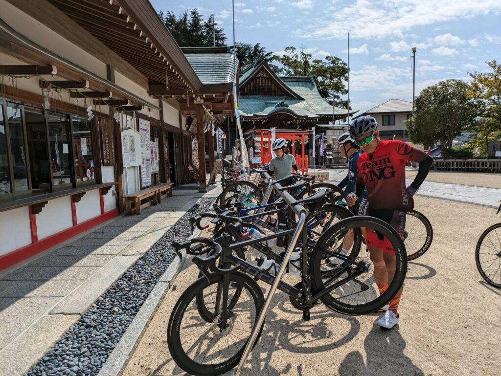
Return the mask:
<svg viewBox="0 0 501 376">
<path fill-rule="evenodd" d="M 140 215 L 121 216 L 0 274 L 0 376 L 24 373 L 200 197 L 174 188 Z"/>
</svg>

